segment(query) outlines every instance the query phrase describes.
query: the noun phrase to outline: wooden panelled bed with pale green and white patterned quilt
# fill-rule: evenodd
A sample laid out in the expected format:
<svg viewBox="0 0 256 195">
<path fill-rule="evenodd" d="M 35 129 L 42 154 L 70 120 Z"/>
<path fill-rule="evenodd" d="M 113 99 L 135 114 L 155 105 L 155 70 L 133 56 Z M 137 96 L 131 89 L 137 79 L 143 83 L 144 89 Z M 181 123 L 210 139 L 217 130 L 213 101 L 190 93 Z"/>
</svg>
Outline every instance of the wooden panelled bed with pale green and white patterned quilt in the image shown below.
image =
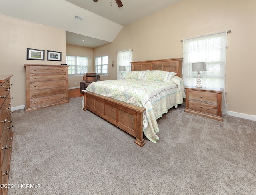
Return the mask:
<svg viewBox="0 0 256 195">
<path fill-rule="evenodd" d="M 83 109 L 92 111 L 135 137 L 135 143 L 140 147 L 145 145 L 144 135 L 156 142 L 159 140 L 156 119 L 170 107 L 183 103 L 185 97 L 181 62 L 182 58 L 131 62 L 132 73 L 150 75 L 151 72 L 168 71 L 176 75 L 172 75 L 171 83 L 129 76 L 122 80 L 94 82 L 82 91 Z M 120 93 L 111 91 L 117 88 Z"/>
</svg>

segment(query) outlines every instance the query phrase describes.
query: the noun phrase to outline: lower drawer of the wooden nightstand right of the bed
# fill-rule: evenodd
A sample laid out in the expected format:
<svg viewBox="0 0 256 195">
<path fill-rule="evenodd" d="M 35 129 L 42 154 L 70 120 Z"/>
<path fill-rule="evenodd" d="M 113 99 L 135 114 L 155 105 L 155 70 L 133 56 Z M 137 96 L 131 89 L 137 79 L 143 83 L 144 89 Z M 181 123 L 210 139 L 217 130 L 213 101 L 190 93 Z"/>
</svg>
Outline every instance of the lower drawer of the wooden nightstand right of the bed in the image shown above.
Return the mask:
<svg viewBox="0 0 256 195">
<path fill-rule="evenodd" d="M 210 113 L 210 114 L 217 114 L 217 104 L 209 104 L 203 103 L 199 101 L 189 101 L 188 109 Z"/>
</svg>

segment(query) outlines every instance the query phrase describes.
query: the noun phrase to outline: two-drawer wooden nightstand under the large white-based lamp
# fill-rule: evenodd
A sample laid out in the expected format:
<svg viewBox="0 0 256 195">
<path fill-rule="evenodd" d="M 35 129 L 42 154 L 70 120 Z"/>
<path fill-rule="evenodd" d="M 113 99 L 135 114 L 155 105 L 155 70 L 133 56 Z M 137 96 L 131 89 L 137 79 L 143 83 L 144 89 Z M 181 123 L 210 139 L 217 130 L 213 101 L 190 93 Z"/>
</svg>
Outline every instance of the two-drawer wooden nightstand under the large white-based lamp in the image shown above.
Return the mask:
<svg viewBox="0 0 256 195">
<path fill-rule="evenodd" d="M 196 88 L 194 86 L 186 86 L 185 89 L 185 112 L 223 121 L 221 113 L 223 89 Z"/>
</svg>

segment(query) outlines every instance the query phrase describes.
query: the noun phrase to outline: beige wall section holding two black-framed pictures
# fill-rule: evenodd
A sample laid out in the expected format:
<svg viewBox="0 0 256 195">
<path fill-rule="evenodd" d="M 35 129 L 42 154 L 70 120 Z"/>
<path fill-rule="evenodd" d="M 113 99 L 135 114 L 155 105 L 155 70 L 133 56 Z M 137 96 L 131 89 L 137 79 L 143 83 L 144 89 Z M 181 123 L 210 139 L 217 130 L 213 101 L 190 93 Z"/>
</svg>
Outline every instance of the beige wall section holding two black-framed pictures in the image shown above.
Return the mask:
<svg viewBox="0 0 256 195">
<path fill-rule="evenodd" d="M 0 74 L 13 74 L 12 107 L 26 104 L 24 64 L 60 64 L 66 59 L 65 30 L 0 15 Z M 26 60 L 27 48 L 45 50 L 44 60 Z M 47 50 L 62 52 L 62 61 L 47 61 Z"/>
</svg>

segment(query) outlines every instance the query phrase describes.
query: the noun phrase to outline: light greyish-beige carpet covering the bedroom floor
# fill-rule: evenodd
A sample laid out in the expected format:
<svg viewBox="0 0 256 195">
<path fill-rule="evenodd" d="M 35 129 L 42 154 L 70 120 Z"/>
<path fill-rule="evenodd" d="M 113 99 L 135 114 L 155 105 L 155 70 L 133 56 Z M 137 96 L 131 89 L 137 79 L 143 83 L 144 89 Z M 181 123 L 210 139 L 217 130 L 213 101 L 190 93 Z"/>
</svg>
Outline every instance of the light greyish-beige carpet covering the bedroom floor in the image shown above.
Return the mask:
<svg viewBox="0 0 256 195">
<path fill-rule="evenodd" d="M 256 122 L 170 109 L 160 141 L 134 137 L 70 103 L 12 114 L 8 195 L 254 195 Z M 18 184 L 40 188 L 18 188 Z M 23 185 L 24 187 L 24 185 Z"/>
</svg>

